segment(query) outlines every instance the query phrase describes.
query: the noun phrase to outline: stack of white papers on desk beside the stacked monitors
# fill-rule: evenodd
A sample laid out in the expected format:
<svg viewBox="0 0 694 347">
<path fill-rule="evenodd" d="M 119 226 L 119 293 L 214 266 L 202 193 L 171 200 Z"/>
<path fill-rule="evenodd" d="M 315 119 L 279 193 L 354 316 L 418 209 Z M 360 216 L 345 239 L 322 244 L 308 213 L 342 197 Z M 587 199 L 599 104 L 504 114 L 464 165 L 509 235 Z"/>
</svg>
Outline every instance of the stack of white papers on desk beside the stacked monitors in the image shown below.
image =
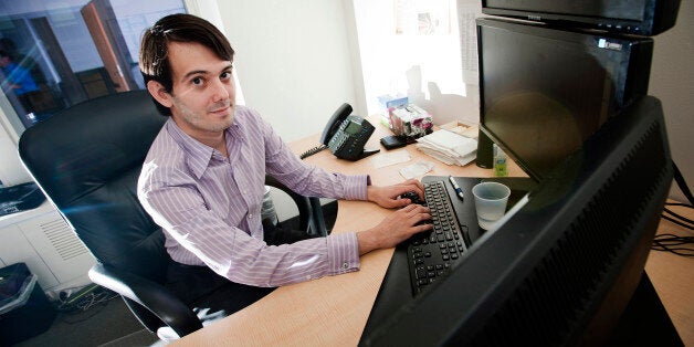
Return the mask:
<svg viewBox="0 0 694 347">
<path fill-rule="evenodd" d="M 464 166 L 475 159 L 477 140 L 440 129 L 417 139 L 417 148 L 448 165 Z"/>
</svg>

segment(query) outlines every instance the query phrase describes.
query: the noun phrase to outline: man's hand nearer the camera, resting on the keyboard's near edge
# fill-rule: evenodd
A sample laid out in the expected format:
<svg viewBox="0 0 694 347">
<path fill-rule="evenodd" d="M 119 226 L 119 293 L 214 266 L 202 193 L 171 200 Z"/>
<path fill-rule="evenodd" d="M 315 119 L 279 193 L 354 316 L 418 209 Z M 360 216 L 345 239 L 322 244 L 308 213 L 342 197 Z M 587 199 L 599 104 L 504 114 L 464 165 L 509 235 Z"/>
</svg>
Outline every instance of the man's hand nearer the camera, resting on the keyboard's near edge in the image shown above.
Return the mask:
<svg viewBox="0 0 694 347">
<path fill-rule="evenodd" d="M 410 204 L 392 212 L 375 228 L 357 233 L 359 255 L 377 249 L 393 248 L 418 232 L 431 230 L 430 223 L 418 225 L 430 219 L 429 208 L 420 204 Z"/>
</svg>

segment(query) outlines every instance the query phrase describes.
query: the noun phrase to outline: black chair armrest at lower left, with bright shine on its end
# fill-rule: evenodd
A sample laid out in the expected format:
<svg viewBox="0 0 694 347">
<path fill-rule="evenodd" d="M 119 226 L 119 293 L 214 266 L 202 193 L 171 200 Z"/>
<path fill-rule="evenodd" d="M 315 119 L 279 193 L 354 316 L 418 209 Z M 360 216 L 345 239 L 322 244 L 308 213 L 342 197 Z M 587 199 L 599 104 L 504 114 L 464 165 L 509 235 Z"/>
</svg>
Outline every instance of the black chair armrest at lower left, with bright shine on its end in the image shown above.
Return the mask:
<svg viewBox="0 0 694 347">
<path fill-rule="evenodd" d="M 88 274 L 94 283 L 147 308 L 178 336 L 186 336 L 202 328 L 202 323 L 192 309 L 156 282 L 102 263 L 94 264 Z"/>
</svg>

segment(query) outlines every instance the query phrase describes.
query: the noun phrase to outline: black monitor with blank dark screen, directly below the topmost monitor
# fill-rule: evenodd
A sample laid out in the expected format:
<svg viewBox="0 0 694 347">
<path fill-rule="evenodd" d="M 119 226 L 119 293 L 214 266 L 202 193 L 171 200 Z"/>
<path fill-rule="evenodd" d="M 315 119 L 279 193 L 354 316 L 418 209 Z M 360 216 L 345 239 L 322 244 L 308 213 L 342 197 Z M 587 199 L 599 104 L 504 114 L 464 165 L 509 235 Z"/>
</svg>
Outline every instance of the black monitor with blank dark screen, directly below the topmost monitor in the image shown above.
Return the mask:
<svg viewBox="0 0 694 347">
<path fill-rule="evenodd" d="M 648 93 L 653 41 L 477 20 L 480 148 L 491 138 L 540 180 L 611 115 Z"/>
</svg>

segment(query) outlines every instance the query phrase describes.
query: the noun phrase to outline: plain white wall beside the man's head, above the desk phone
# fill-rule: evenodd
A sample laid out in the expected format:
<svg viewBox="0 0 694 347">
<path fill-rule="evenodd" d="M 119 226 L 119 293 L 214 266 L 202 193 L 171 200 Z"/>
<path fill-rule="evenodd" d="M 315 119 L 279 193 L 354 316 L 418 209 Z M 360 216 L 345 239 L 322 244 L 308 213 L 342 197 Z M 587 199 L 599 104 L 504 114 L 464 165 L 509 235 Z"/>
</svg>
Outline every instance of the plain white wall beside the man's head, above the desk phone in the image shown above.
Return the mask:
<svg viewBox="0 0 694 347">
<path fill-rule="evenodd" d="M 353 53 L 341 1 L 218 1 L 248 106 L 285 140 L 323 130 L 355 108 Z M 357 108 L 358 109 L 358 108 Z"/>
</svg>

